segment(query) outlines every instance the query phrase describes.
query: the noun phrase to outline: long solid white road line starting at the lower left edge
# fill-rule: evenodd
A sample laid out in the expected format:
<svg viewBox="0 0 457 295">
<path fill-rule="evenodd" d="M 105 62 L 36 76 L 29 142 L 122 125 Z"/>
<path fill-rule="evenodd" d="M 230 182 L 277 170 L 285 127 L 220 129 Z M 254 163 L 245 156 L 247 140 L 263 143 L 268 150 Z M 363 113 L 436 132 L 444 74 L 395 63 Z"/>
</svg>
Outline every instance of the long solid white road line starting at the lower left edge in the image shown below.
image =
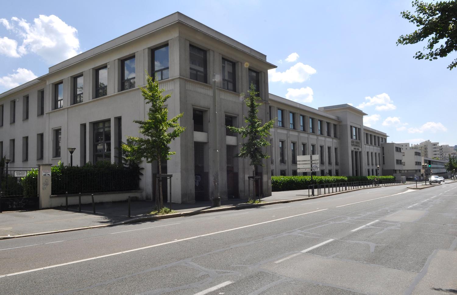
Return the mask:
<svg viewBox="0 0 457 295">
<path fill-rule="evenodd" d="M 179 240 L 174 240 L 174 241 L 170 241 L 170 242 L 149 245 L 149 246 L 145 246 L 145 247 L 141 247 L 141 248 L 135 248 L 135 249 L 127 250 L 127 251 L 116 252 L 116 253 L 111 253 L 111 254 L 105 254 L 105 255 L 101 255 L 101 256 L 90 257 L 90 258 L 86 258 L 86 259 L 80 259 L 80 260 L 65 262 L 65 263 L 61 263 L 61 264 L 49 265 L 49 266 L 40 267 L 40 268 L 37 268 L 37 269 L 29 269 L 29 270 L 19 271 L 19 272 L 11 273 L 11 274 L 2 274 L 2 275 L 0 275 L 0 278 L 9 277 L 9 276 L 12 276 L 12 275 L 17 275 L 17 274 L 26 274 L 26 273 L 30 273 L 30 272 L 34 272 L 34 271 L 38 271 L 38 270 L 43 270 L 43 269 L 52 269 L 52 268 L 59 267 L 59 266 L 75 264 L 75 263 L 80 263 L 80 262 L 84 262 L 84 261 L 90 261 L 90 260 L 94 260 L 94 259 L 100 259 L 100 258 L 104 258 L 104 257 L 109 257 L 109 256 L 125 254 L 125 253 L 129 253 L 129 252 L 134 252 L 134 251 L 139 251 L 139 250 L 144 250 L 144 249 L 149 249 L 149 248 L 154 248 L 154 247 L 159 247 L 159 246 L 168 245 L 168 244 L 171 244 L 171 243 L 177 243 L 177 242 L 191 240 L 191 239 L 194 239 L 194 238 L 207 237 L 207 236 L 211 236 L 211 235 L 218 234 L 218 233 L 227 233 L 227 232 L 231 232 L 231 231 L 242 229 L 242 228 L 250 228 L 250 227 L 253 227 L 253 226 L 256 226 L 256 225 L 260 225 L 260 224 L 276 222 L 276 221 L 280 221 L 280 220 L 284 220 L 284 219 L 288 219 L 288 218 L 292 218 L 292 217 L 297 217 L 297 216 L 302 216 L 302 215 L 306 215 L 306 214 L 310 214 L 310 213 L 320 212 L 320 211 L 324 211 L 324 210 L 328 210 L 328 209 L 321 209 L 321 210 L 317 210 L 317 211 L 301 213 L 301 214 L 297 214 L 297 215 L 292 215 L 292 216 L 277 218 L 277 219 L 273 219 L 273 220 L 269 220 L 269 221 L 264 221 L 264 222 L 261 222 L 261 223 L 249 224 L 249 225 L 245 225 L 245 226 L 238 227 L 238 228 L 229 228 L 229 229 L 225 229 L 225 230 L 214 232 L 214 233 L 205 233 L 205 234 L 201 234 L 201 235 L 193 236 L 193 237 L 189 237 L 189 238 L 181 238 Z"/>
</svg>

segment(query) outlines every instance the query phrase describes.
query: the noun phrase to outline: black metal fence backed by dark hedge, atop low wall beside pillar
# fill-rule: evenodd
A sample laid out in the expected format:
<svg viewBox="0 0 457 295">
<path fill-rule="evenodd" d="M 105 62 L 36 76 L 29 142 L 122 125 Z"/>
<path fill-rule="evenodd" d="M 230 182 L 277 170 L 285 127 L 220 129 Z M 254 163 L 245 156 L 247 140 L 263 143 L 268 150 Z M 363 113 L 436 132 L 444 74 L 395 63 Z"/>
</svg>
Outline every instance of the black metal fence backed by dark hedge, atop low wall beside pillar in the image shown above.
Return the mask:
<svg viewBox="0 0 457 295">
<path fill-rule="evenodd" d="M 128 167 L 52 167 L 53 195 L 138 190 L 138 169 Z"/>
</svg>

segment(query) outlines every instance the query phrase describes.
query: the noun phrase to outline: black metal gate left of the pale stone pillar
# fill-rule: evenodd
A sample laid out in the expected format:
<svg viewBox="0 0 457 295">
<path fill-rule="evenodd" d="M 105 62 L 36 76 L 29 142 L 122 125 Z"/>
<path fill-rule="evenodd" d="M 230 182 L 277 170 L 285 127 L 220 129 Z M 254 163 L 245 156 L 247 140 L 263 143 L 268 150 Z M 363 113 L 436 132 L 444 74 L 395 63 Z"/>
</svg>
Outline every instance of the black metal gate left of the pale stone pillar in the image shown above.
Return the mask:
<svg viewBox="0 0 457 295">
<path fill-rule="evenodd" d="M 38 171 L 30 167 L 0 169 L 0 212 L 37 209 Z"/>
</svg>

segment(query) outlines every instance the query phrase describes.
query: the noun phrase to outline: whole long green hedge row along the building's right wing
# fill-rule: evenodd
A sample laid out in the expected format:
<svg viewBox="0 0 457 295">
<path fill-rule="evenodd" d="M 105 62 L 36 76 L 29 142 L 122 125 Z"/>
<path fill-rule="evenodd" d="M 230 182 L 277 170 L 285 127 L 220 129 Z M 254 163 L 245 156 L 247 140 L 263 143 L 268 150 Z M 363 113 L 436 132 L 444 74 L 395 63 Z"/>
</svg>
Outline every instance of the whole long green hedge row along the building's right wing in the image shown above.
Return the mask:
<svg viewBox="0 0 457 295">
<path fill-rule="evenodd" d="M 352 181 L 392 181 L 394 176 L 313 176 L 314 184 L 341 183 Z M 305 190 L 311 183 L 311 176 L 271 176 L 271 191 Z"/>
</svg>

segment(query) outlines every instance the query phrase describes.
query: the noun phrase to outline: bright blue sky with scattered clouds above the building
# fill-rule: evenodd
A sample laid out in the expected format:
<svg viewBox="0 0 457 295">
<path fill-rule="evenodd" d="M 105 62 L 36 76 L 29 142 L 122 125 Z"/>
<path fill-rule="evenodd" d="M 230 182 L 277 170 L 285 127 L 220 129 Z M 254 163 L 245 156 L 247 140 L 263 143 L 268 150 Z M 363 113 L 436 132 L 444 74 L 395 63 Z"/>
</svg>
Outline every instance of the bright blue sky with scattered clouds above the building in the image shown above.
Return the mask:
<svg viewBox="0 0 457 295">
<path fill-rule="evenodd" d="M 61 60 L 180 11 L 267 55 L 270 92 L 311 107 L 350 103 L 388 141 L 456 145 L 457 54 L 396 46 L 409 0 L 15 1 L 0 12 L 0 93 Z M 156 3 L 159 3 L 157 5 Z M 40 16 L 42 15 L 42 16 Z M 48 38 L 44 38 L 47 36 Z M 55 42 L 58 40 L 59 42 Z"/>
</svg>

